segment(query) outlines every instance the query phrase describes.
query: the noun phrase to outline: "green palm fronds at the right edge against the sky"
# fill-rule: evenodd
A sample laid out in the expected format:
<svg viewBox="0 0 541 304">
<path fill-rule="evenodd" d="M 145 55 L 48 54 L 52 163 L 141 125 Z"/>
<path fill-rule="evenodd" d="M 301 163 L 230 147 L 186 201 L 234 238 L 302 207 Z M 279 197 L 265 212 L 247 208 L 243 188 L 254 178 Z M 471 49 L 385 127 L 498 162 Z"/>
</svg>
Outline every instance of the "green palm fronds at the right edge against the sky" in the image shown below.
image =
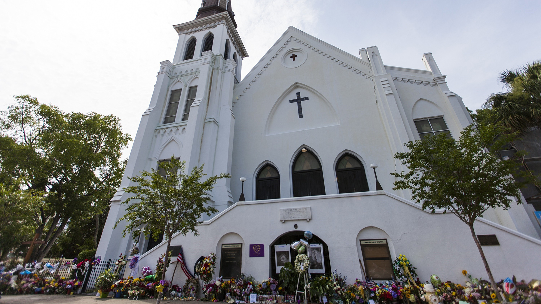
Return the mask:
<svg viewBox="0 0 541 304">
<path fill-rule="evenodd" d="M 485 107 L 492 111 L 492 122 L 510 133 L 524 133 L 541 127 L 541 61 L 517 70 L 500 73 L 498 81 L 507 92 L 492 94 Z"/>
</svg>

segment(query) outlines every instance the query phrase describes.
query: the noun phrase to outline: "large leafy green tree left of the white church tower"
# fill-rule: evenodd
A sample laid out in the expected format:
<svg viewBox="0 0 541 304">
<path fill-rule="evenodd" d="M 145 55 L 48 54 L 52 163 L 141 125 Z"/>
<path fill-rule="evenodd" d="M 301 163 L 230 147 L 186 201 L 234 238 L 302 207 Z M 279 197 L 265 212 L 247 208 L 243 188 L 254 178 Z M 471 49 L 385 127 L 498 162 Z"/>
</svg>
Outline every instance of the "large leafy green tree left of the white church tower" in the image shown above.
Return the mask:
<svg viewBox="0 0 541 304">
<path fill-rule="evenodd" d="M 71 219 L 101 213 L 122 179 L 120 157 L 131 137 L 113 115 L 65 114 L 29 95 L 15 100 L 0 119 L 0 168 L 3 176 L 24 176 L 26 188 L 47 193 L 33 214 L 45 243 L 32 257 L 41 260 Z"/>
</svg>

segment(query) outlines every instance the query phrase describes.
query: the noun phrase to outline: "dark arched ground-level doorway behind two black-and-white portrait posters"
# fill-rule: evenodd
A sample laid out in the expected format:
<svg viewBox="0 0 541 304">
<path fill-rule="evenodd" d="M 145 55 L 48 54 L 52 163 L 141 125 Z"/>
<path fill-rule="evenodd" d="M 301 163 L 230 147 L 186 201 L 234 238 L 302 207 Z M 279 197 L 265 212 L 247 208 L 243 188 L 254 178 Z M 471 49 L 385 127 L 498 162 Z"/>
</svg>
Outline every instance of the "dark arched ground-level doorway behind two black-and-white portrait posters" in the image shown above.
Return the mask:
<svg viewBox="0 0 541 304">
<path fill-rule="evenodd" d="M 291 260 L 289 260 L 291 263 L 295 262 L 295 257 L 297 256 L 297 252 L 291 248 L 291 243 L 296 242 L 300 239 L 304 239 L 304 231 L 303 230 L 294 230 L 287 232 L 285 234 L 282 234 L 278 239 L 276 239 L 271 246 L 269 247 L 269 252 L 271 253 L 271 263 L 270 263 L 270 269 L 269 273 L 270 276 L 274 279 L 278 280 L 279 272 L 276 272 L 276 254 L 274 251 L 275 245 L 287 245 L 287 248 L 289 248 L 289 254 L 291 255 Z M 324 265 L 325 272 L 324 273 L 313 273 L 312 275 L 319 275 L 319 274 L 326 274 L 331 275 L 331 260 L 329 259 L 329 248 L 327 244 L 321 240 L 317 235 L 313 234 L 312 239 L 308 240 L 310 244 L 321 244 L 322 248 L 322 264 Z M 315 252 L 315 251 L 314 251 Z M 311 261 L 313 260 L 313 257 Z"/>
</svg>

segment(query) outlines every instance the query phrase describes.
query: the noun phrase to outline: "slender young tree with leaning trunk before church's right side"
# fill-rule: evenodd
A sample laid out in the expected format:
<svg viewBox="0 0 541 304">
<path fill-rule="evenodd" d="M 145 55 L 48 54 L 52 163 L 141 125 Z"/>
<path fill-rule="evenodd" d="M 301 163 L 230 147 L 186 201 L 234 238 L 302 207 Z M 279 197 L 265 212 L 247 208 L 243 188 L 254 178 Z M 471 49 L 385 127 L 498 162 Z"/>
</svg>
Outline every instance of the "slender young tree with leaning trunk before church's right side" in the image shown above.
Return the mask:
<svg viewBox="0 0 541 304">
<path fill-rule="evenodd" d="M 480 125 L 477 129 L 470 125 L 458 140 L 439 134 L 423 141 L 410 141 L 406 143 L 407 152 L 394 154 L 408 171 L 391 173 L 398 177 L 394 190 L 411 189 L 412 200 L 423 204 L 423 209 L 434 213 L 436 208 L 442 208 L 444 213 L 451 212 L 467 224 L 498 298 L 496 282 L 473 223 L 489 208 L 509 209 L 511 197 L 522 203 L 522 183 L 509 177 L 522 174 L 517 173 L 519 164 L 497 157 L 513 136 L 516 134 L 505 135 L 493 125 Z"/>
</svg>

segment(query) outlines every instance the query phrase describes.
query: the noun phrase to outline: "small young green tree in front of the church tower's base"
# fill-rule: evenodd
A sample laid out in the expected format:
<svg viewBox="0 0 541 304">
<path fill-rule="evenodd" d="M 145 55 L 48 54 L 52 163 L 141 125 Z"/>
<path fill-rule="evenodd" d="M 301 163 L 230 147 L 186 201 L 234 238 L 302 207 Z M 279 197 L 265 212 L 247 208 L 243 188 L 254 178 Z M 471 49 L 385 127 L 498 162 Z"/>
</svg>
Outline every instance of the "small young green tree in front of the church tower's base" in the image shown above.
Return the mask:
<svg viewBox="0 0 541 304">
<path fill-rule="evenodd" d="M 218 179 L 231 175 L 222 173 L 201 181 L 206 175 L 203 174 L 203 166 L 194 167 L 190 174 L 185 174 L 185 162 L 176 159 L 174 155 L 170 162 L 160 162 L 159 166 L 167 173 L 167 179 L 154 169 L 150 172 L 141 171 L 141 176 L 129 177 L 136 185 L 126 187 L 124 191 L 133 193 L 134 196 L 123 202 L 129 206 L 114 228 L 118 223 L 127 221 L 128 224 L 122 231 L 123 236 L 131 232 L 134 237 L 141 233 L 146 236 L 152 233 L 154 240 L 157 240 L 157 236 L 163 233 L 167 239 L 164 256 L 168 256 L 174 234 L 186 235 L 192 232 L 199 235 L 197 225 L 202 223 L 201 215 L 210 216 L 218 211 L 207 204 L 210 199 L 207 193 L 214 188 Z M 141 226 L 143 228 L 139 228 Z M 165 280 L 166 270 L 163 269 L 161 280 Z M 157 304 L 160 303 L 160 297 L 161 293 L 156 297 Z"/>
</svg>

